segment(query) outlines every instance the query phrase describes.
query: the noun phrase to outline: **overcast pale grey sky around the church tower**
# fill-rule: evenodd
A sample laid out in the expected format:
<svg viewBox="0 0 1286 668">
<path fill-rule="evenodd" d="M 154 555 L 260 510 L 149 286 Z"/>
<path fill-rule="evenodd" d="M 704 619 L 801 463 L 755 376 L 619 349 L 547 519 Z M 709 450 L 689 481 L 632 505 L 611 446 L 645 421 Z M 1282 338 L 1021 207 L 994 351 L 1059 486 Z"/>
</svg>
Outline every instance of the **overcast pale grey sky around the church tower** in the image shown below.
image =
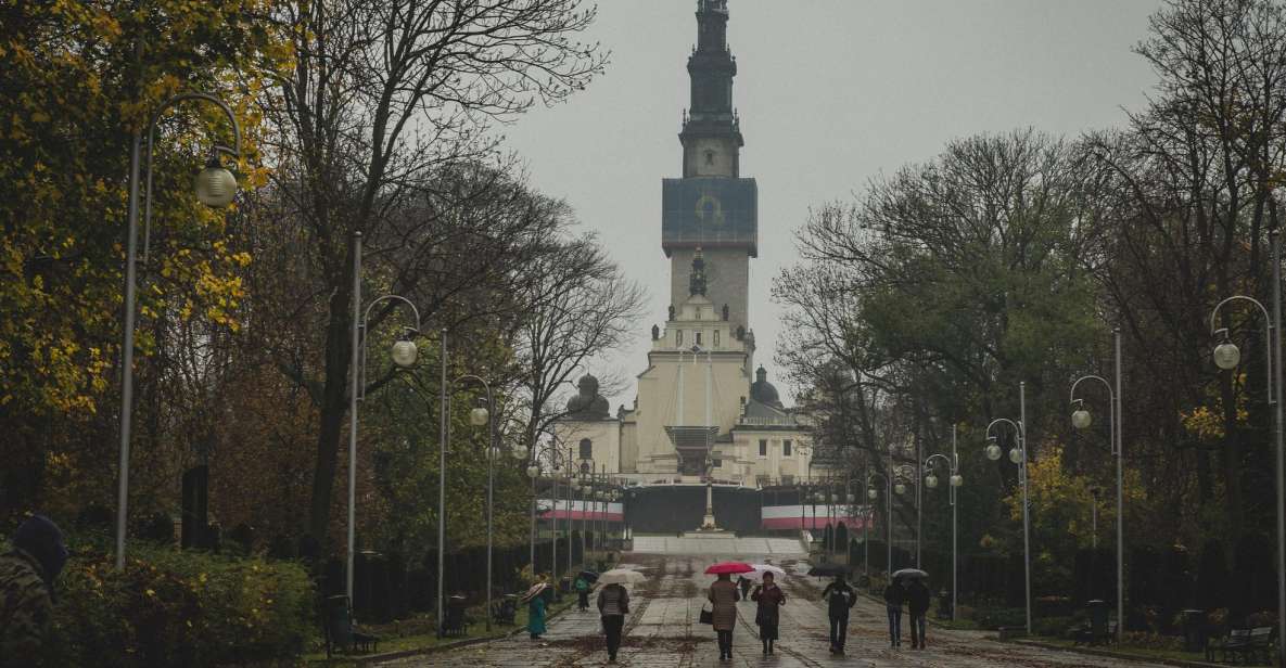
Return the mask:
<svg viewBox="0 0 1286 668">
<path fill-rule="evenodd" d="M 809 207 L 850 199 L 867 181 L 936 155 L 953 139 L 1015 127 L 1076 135 L 1124 123 L 1155 76 L 1130 46 L 1160 0 L 729 0 L 733 101 L 759 181 L 759 258 L 751 261 L 756 362 L 773 355 L 782 307 L 773 277 L 796 261 Z M 633 378 L 649 328 L 664 324 L 661 179 L 680 173 L 685 63 L 694 0 L 602 0 L 589 40 L 607 73 L 571 101 L 507 127 L 534 185 L 565 198 L 648 290 L 637 343 L 597 362 Z M 791 388 L 779 384 L 783 400 Z M 630 384 L 608 397 L 634 400 Z"/>
</svg>

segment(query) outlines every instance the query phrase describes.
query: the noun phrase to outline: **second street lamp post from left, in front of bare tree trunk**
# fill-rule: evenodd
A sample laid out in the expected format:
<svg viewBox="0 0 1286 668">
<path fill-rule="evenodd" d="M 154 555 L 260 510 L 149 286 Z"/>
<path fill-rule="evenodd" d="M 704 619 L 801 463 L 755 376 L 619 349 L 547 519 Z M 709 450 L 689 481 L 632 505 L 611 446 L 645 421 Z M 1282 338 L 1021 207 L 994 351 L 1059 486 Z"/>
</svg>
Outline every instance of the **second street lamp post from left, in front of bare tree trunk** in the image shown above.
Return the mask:
<svg viewBox="0 0 1286 668">
<path fill-rule="evenodd" d="M 356 554 L 358 537 L 358 402 L 367 398 L 367 338 L 370 330 L 370 311 L 385 302 L 399 302 L 410 308 L 415 319 L 415 326 L 410 328 L 401 338 L 394 342 L 390 357 L 400 369 L 409 369 L 415 364 L 419 351 L 410 335 L 418 334 L 419 310 L 410 299 L 386 294 L 373 299 L 365 311 L 361 311 L 361 233 L 352 233 L 352 373 L 349 380 L 349 547 L 345 555 L 345 593 L 350 605 L 352 597 L 354 556 Z"/>
</svg>

